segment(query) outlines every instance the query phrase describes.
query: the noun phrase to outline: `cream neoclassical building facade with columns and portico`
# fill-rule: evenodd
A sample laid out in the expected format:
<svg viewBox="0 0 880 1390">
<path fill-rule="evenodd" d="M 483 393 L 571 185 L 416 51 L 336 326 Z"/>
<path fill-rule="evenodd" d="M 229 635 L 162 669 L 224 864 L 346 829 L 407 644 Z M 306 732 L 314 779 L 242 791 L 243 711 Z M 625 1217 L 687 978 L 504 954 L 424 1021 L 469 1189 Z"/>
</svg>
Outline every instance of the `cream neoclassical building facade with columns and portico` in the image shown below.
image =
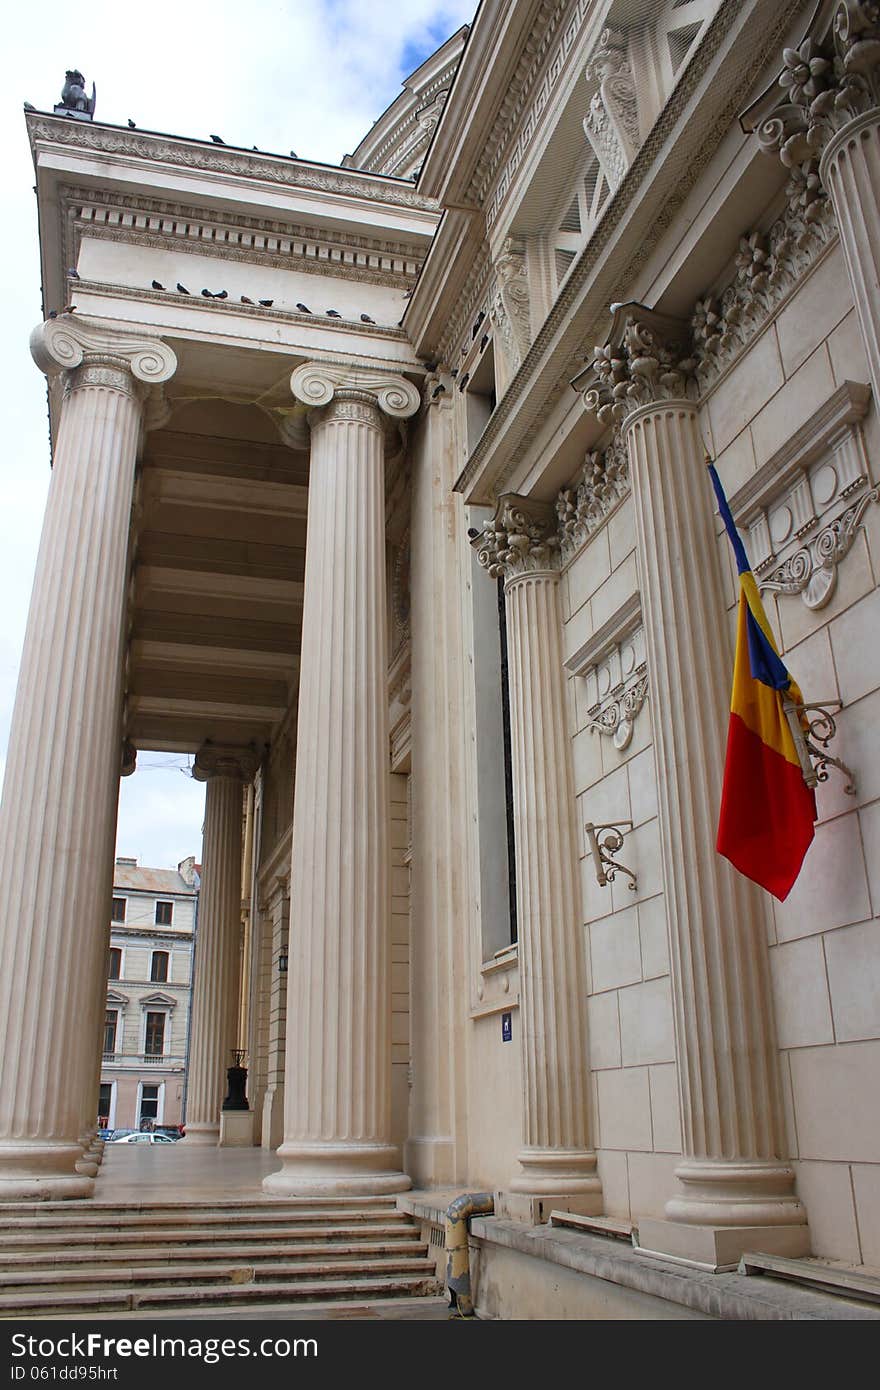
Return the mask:
<svg viewBox="0 0 880 1390">
<path fill-rule="evenodd" d="M 243 1027 L 266 1191 L 488 1190 L 487 1307 L 551 1212 L 681 1269 L 880 1265 L 874 7 L 484 0 L 338 168 L 26 125 L 54 464 L 0 1191 L 93 1190 L 118 778 L 174 749 L 185 1143 Z M 706 456 L 813 706 L 784 902 L 715 849 Z"/>
</svg>

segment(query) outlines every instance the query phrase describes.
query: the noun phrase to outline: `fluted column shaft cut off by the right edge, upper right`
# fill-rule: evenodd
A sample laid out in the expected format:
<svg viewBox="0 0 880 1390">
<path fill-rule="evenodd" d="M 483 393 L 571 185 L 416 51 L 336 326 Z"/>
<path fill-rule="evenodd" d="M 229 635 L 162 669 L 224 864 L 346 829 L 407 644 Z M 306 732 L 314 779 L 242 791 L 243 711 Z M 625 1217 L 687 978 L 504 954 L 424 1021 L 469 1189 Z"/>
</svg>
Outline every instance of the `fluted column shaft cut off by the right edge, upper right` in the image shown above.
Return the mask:
<svg viewBox="0 0 880 1390">
<path fill-rule="evenodd" d="M 829 142 L 820 164 L 831 195 L 840 245 L 865 339 L 867 370 L 880 400 L 880 107 L 851 121 Z"/>
</svg>

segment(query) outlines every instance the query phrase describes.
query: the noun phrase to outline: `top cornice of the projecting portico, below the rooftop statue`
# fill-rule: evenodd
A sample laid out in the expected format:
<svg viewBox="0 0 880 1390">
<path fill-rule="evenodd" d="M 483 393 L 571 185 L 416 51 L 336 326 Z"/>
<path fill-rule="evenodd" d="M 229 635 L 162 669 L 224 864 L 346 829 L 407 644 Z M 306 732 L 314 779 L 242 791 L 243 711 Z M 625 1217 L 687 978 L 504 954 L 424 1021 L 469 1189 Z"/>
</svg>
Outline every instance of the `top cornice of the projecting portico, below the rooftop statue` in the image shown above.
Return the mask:
<svg viewBox="0 0 880 1390">
<path fill-rule="evenodd" d="M 93 154 L 128 156 L 150 164 L 232 175 L 242 181 L 282 183 L 291 189 L 363 199 L 410 211 L 438 211 L 437 203 L 418 193 L 410 182 L 389 175 L 342 170 L 332 164 L 311 164 L 282 154 L 238 150 L 228 145 L 207 145 L 177 135 L 67 121 L 42 111 L 28 113 L 26 122 L 35 157 L 38 143 L 49 142 Z"/>
</svg>

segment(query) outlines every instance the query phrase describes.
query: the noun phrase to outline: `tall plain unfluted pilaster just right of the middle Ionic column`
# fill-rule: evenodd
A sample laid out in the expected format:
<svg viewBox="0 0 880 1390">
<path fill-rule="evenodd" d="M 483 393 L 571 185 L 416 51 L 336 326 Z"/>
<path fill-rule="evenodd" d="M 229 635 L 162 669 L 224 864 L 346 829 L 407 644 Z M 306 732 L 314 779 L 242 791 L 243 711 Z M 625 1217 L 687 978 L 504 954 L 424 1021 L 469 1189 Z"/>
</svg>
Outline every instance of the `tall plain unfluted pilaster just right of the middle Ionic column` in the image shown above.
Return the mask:
<svg viewBox="0 0 880 1390">
<path fill-rule="evenodd" d="M 445 1187 L 464 1172 L 466 1063 L 457 1011 L 467 998 L 455 949 L 467 910 L 463 717 L 462 527 L 453 493 L 453 400 L 445 374 L 428 377 L 413 450 L 412 517 L 412 1090 L 406 1170 L 416 1187 Z M 470 569 L 470 553 L 464 560 Z M 459 1147 L 460 1145 L 460 1147 Z"/>
</svg>

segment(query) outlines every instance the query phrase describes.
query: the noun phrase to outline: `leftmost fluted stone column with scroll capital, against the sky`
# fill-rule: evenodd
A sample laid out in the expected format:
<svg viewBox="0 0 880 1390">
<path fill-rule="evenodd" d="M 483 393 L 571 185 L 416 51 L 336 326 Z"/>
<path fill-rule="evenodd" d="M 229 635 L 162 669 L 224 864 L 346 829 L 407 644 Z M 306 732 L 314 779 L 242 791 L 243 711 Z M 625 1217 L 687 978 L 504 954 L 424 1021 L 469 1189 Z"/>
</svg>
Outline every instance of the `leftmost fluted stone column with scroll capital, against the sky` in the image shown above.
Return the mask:
<svg viewBox="0 0 880 1390">
<path fill-rule="evenodd" d="M 106 986 L 140 384 L 177 366 L 158 341 L 68 320 L 38 327 L 31 350 L 67 375 L 0 810 L 7 1200 L 93 1188 L 75 1165 Z"/>
</svg>

